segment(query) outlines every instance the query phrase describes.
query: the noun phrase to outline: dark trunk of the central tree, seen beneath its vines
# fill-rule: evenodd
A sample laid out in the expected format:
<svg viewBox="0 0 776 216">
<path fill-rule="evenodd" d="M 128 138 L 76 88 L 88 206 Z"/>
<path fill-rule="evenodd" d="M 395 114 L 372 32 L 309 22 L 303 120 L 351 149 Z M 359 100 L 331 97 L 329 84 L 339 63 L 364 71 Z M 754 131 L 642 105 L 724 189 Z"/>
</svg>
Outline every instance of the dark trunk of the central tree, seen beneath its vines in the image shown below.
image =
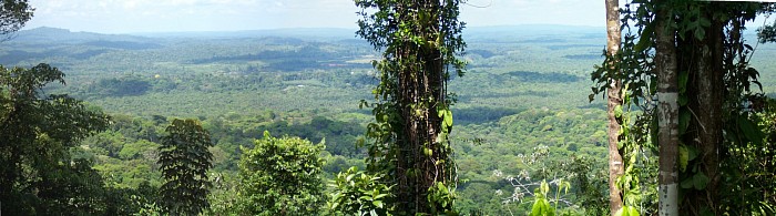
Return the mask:
<svg viewBox="0 0 776 216">
<path fill-rule="evenodd" d="M 439 17 L 439 1 L 412 1 L 408 6 L 399 6 L 405 12 L 400 20 L 417 21 L 415 28 L 416 35 L 427 40 L 436 39 L 440 33 L 439 20 L 428 19 L 421 20 L 419 13 L 426 12 L 430 17 Z M 417 10 L 417 12 L 412 12 Z M 408 209 L 410 213 L 431 213 L 430 204 L 428 204 L 427 192 L 435 186 L 437 182 L 447 183 L 445 176 L 445 167 L 447 164 L 435 163 L 438 161 L 448 161 L 448 156 L 437 142 L 440 135 L 441 117 L 438 115 L 436 106 L 428 105 L 438 102 L 443 102 L 446 99 L 445 91 L 445 63 L 443 56 L 439 49 L 421 49 L 410 42 L 405 42 L 405 45 L 399 50 L 398 58 L 405 60 L 415 60 L 421 65 L 402 65 L 398 84 L 400 89 L 399 107 L 401 109 L 404 122 L 404 132 L 399 134 L 398 144 L 405 145 L 401 147 L 402 160 L 399 160 L 399 182 L 400 194 L 407 203 L 402 204 L 402 209 Z M 399 60 L 401 61 L 401 60 Z M 430 155 L 427 155 L 431 153 Z M 408 174 L 416 172 L 416 174 Z"/>
</svg>

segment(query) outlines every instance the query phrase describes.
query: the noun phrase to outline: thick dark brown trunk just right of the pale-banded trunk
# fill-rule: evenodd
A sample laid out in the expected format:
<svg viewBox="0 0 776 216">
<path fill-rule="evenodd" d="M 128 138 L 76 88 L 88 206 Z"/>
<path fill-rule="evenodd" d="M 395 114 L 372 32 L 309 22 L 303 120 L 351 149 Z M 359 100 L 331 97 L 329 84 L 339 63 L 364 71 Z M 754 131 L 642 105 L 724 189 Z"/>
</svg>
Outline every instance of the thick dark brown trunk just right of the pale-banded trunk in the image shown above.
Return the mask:
<svg viewBox="0 0 776 216">
<path fill-rule="evenodd" d="M 716 4 L 713 2 L 711 6 Z M 708 9 L 707 9 L 708 10 Z M 688 134 L 684 137 L 684 143 L 693 145 L 700 150 L 702 160 L 701 169 L 711 182 L 704 191 L 694 191 L 687 194 L 686 204 L 692 206 L 683 209 L 683 215 L 697 215 L 697 210 L 704 207 L 716 212 L 717 206 L 717 184 L 719 182 L 718 147 L 722 145 L 723 103 L 724 103 L 724 72 L 723 72 L 723 38 L 724 24 L 715 19 L 711 12 L 705 14 L 712 21 L 704 40 L 697 44 L 687 44 L 694 56 L 692 63 L 687 65 L 690 81 L 687 82 L 688 107 L 696 117 L 692 121 Z M 684 205 L 683 205 L 684 206 Z"/>
</svg>

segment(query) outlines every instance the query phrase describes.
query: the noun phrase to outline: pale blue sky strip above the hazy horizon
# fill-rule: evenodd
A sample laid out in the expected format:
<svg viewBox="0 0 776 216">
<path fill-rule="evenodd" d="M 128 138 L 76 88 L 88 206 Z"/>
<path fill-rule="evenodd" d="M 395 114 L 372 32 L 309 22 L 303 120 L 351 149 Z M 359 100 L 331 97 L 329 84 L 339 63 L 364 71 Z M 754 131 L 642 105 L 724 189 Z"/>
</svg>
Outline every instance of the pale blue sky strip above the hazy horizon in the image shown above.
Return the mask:
<svg viewBox="0 0 776 216">
<path fill-rule="evenodd" d="M 469 27 L 570 24 L 603 27 L 603 0 L 468 0 Z M 278 28 L 355 29 L 353 0 L 30 0 L 25 29 L 100 33 L 237 31 Z"/>
</svg>

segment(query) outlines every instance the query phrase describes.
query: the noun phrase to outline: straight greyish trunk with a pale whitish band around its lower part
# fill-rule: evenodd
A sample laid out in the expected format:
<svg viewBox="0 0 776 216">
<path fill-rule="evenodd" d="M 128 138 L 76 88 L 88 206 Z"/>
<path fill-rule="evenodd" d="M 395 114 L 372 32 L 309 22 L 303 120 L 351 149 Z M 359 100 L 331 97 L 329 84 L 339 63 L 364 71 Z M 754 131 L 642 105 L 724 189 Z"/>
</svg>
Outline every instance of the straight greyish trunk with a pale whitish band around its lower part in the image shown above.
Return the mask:
<svg viewBox="0 0 776 216">
<path fill-rule="evenodd" d="M 678 215 L 678 79 L 673 17 L 665 7 L 655 11 L 655 70 L 657 72 L 657 124 L 660 143 L 658 215 Z"/>
</svg>

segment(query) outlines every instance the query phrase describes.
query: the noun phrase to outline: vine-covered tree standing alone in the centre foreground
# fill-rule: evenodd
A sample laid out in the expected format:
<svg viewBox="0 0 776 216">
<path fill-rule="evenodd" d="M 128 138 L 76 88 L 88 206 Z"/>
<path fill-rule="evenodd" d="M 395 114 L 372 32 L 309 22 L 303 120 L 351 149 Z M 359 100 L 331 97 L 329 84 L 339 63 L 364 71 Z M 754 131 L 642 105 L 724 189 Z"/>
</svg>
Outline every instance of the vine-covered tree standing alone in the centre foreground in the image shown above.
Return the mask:
<svg viewBox="0 0 776 216">
<path fill-rule="evenodd" d="M 372 90 L 375 122 L 367 126 L 367 171 L 385 173 L 400 199 L 397 214 L 452 212 L 456 164 L 448 138 L 455 94 L 451 71 L 463 74 L 457 58 L 466 43 L 458 21 L 460 0 L 356 0 L 359 37 L 382 59 L 374 61 L 380 83 Z"/>
</svg>

